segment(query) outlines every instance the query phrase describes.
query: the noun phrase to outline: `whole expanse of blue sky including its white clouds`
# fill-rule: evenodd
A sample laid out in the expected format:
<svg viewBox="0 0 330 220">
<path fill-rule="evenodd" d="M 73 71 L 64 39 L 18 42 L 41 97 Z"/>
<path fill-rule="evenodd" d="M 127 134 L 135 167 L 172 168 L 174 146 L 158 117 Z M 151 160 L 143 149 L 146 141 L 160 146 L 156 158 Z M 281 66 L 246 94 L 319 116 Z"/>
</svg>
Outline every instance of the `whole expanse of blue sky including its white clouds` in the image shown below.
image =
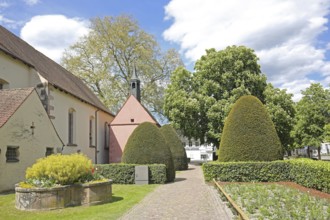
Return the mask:
<svg viewBox="0 0 330 220">
<path fill-rule="evenodd" d="M 128 14 L 186 66 L 205 49 L 253 48 L 275 86 L 330 84 L 330 0 L 0 0 L 0 24 L 55 61 L 93 17 Z"/>
</svg>

